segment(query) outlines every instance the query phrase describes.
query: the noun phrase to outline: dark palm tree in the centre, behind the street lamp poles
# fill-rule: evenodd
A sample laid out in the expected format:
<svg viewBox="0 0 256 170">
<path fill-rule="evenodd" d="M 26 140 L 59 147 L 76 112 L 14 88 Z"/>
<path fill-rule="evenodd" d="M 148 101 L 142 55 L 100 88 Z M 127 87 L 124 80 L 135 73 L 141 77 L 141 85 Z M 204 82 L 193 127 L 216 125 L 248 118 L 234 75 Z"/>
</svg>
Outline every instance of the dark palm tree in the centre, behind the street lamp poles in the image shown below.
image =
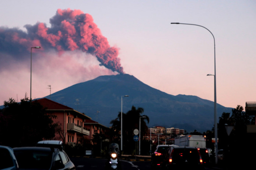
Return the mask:
<svg viewBox="0 0 256 170">
<path fill-rule="evenodd" d="M 142 115 L 143 112 L 144 112 L 143 108 L 138 107 L 136 109 L 135 106 L 132 106 L 130 111 L 128 111 L 127 113 L 123 113 L 123 116 L 122 116 L 122 118 L 123 118 L 123 152 L 125 154 L 133 154 L 134 153 L 135 146 L 136 146 L 136 142 L 133 140 L 133 136 L 134 136 L 133 130 L 134 129 L 139 130 L 139 126 L 140 126 L 141 141 L 143 139 L 143 136 L 145 134 L 147 134 L 147 132 L 148 132 L 148 127 L 147 127 L 146 122 L 149 123 L 149 117 L 147 115 Z M 146 122 L 145 122 L 145 120 L 146 120 Z M 110 123 L 112 124 L 111 132 L 112 132 L 112 135 L 114 135 L 112 137 L 113 142 L 116 142 L 120 145 L 121 144 L 121 142 L 120 142 L 121 113 L 119 112 L 118 118 L 112 120 Z"/>
</svg>

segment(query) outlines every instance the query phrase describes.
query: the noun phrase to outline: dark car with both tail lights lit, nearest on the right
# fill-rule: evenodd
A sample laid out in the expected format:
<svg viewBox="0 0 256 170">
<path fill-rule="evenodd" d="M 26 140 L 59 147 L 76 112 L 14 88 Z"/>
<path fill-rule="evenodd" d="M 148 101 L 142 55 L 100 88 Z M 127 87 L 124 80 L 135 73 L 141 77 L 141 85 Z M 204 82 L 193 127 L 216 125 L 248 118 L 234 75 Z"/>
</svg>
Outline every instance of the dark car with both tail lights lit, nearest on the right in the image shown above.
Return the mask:
<svg viewBox="0 0 256 170">
<path fill-rule="evenodd" d="M 196 147 L 172 147 L 166 152 L 164 169 L 204 169 L 199 150 Z"/>
</svg>

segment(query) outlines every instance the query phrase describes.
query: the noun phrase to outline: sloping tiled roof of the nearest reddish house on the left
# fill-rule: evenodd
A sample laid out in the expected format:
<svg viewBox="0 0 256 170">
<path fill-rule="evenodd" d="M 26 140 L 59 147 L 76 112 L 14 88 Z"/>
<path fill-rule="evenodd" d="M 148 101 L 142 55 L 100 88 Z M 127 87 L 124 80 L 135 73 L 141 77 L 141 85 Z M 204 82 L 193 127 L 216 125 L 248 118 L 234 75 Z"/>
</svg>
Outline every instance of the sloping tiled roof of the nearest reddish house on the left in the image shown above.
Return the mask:
<svg viewBox="0 0 256 170">
<path fill-rule="evenodd" d="M 47 110 L 74 110 L 73 108 L 70 108 L 68 106 L 64 106 L 62 104 L 59 104 L 55 101 L 49 100 L 47 98 L 42 98 L 39 100 L 36 100 L 41 104 L 43 107 L 45 107 Z"/>
</svg>

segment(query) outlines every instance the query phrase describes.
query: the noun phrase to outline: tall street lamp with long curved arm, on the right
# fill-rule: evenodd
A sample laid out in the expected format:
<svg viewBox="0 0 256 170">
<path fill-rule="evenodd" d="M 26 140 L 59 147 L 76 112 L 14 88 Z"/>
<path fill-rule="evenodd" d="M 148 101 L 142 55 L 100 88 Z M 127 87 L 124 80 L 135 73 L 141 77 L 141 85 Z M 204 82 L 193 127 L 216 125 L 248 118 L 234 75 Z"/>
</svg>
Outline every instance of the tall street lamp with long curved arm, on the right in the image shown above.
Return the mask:
<svg viewBox="0 0 256 170">
<path fill-rule="evenodd" d="M 171 22 L 171 24 L 185 24 L 185 25 L 195 25 L 195 26 L 201 26 L 191 23 L 179 23 L 179 22 Z M 201 26 L 205 28 L 204 26 Z M 207 29 L 207 28 L 205 28 Z M 208 29 L 207 29 L 208 30 Z M 210 33 L 211 31 L 208 30 Z M 211 33 L 213 36 L 213 33 Z M 216 62 L 215 62 L 215 38 L 213 36 L 214 41 L 214 75 L 208 74 L 207 76 L 214 76 L 214 135 L 215 135 L 215 163 L 218 163 L 218 128 L 217 128 L 217 101 L 216 101 Z"/>
</svg>

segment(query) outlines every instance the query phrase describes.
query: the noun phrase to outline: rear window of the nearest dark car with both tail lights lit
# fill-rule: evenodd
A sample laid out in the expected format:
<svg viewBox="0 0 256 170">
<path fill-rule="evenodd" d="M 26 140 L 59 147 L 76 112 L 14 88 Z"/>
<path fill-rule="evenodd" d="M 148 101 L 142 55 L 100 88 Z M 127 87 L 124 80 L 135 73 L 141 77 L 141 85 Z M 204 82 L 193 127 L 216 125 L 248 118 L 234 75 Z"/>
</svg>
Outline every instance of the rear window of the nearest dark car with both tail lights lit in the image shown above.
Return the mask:
<svg viewBox="0 0 256 170">
<path fill-rule="evenodd" d="M 173 162 L 175 163 L 199 163 L 200 157 L 197 149 L 174 149 L 172 155 Z"/>
</svg>

